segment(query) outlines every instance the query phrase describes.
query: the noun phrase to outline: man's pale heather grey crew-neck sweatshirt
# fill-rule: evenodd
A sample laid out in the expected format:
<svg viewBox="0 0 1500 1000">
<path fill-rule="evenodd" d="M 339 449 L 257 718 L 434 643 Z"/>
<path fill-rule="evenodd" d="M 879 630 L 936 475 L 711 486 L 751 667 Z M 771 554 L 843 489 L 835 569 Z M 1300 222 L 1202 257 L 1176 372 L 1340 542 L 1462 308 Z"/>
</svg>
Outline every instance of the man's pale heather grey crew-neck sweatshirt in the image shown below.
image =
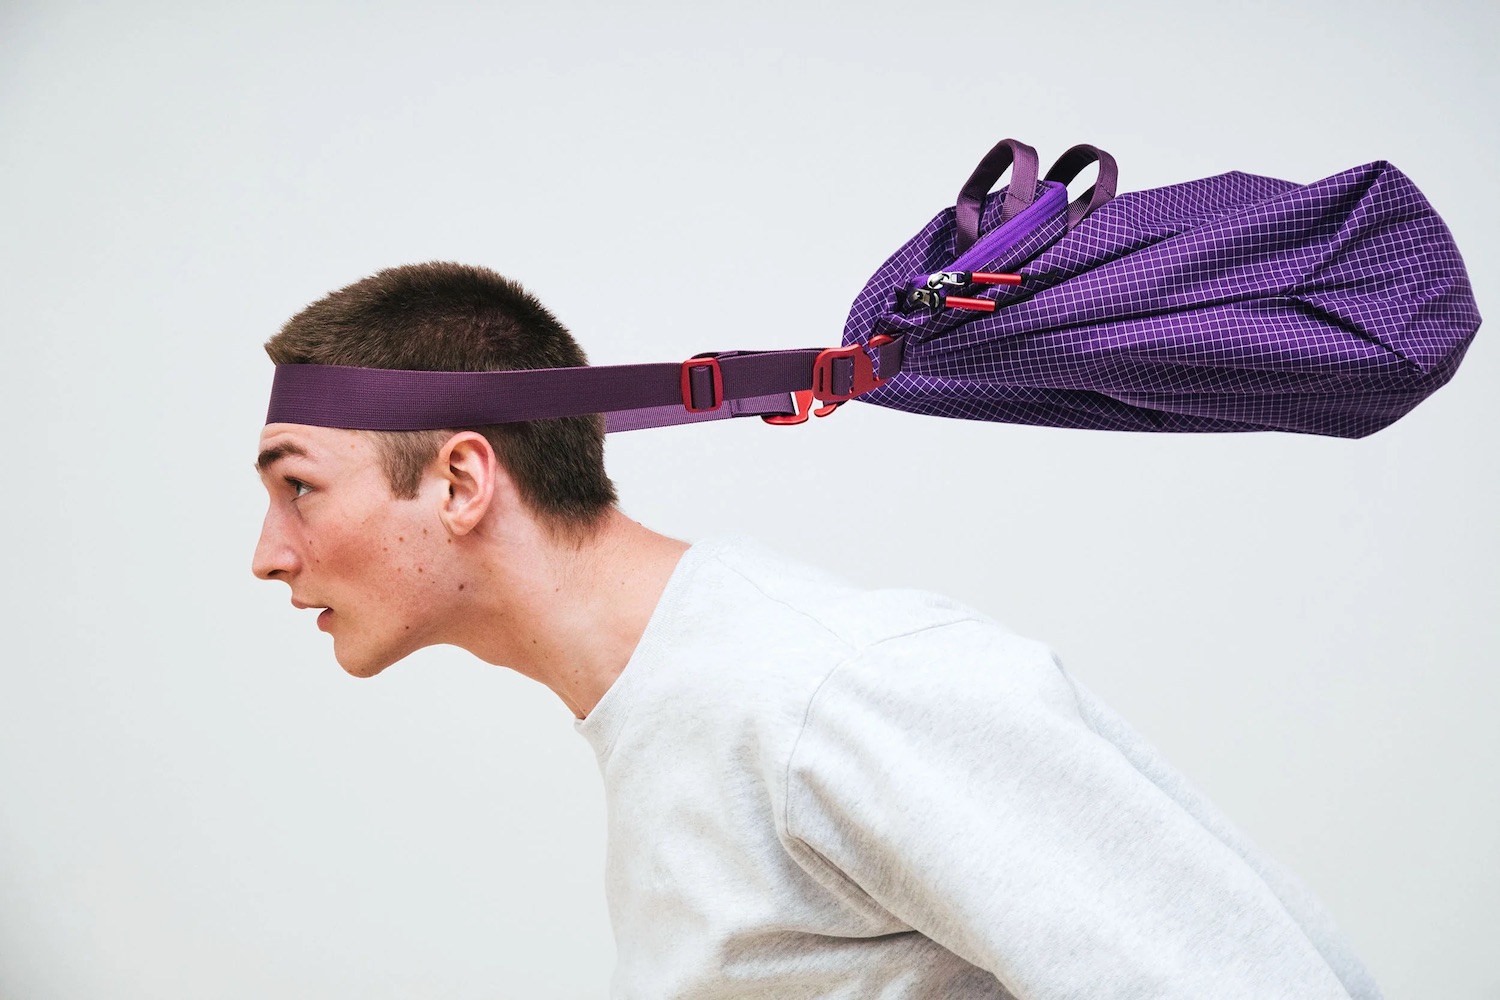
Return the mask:
<svg viewBox="0 0 1500 1000">
<path fill-rule="evenodd" d="M 1380 996 L 1044 646 L 946 598 L 699 543 L 576 727 L 614 997 Z"/>
</svg>

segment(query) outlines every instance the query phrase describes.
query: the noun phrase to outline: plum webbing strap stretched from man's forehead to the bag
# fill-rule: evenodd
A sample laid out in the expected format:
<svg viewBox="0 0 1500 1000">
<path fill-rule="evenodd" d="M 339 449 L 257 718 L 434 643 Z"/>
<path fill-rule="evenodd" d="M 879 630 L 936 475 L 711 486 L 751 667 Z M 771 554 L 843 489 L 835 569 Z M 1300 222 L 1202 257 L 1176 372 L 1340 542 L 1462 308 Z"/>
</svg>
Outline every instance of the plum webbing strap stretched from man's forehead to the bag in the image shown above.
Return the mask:
<svg viewBox="0 0 1500 1000">
<path fill-rule="evenodd" d="M 900 339 L 878 349 L 876 370 L 894 376 Z M 790 393 L 813 385 L 820 348 L 724 352 L 723 405 L 690 411 L 681 364 L 510 372 L 408 372 L 333 364 L 278 364 L 266 423 L 352 430 L 430 430 L 520 420 L 609 414 L 610 429 L 662 427 L 723 417 L 790 414 Z M 840 390 L 840 387 L 834 387 Z"/>
</svg>

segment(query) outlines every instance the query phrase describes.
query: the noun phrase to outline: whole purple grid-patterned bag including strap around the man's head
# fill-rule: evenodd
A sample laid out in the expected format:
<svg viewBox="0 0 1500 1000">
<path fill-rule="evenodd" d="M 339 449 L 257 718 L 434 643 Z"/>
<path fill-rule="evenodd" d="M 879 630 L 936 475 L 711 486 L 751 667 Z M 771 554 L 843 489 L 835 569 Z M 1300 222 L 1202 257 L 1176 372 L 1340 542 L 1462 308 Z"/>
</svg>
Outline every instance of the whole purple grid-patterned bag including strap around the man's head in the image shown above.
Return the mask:
<svg viewBox="0 0 1500 1000">
<path fill-rule="evenodd" d="M 1312 184 L 1236 171 L 1116 198 L 1114 183 L 1092 145 L 1038 177 L 1036 151 L 1002 141 L 868 280 L 840 348 L 524 372 L 282 364 L 267 423 L 606 414 L 614 432 L 795 424 L 861 399 L 1054 427 L 1358 438 L 1452 378 L 1479 328 L 1448 226 L 1386 162 Z"/>
</svg>

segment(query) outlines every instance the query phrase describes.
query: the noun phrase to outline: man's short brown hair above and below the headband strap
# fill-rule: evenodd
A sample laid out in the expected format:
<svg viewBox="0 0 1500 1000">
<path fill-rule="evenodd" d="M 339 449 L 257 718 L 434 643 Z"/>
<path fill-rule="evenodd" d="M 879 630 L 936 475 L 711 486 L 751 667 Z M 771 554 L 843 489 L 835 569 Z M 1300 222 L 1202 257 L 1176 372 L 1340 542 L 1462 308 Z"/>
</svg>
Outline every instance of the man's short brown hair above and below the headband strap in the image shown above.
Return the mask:
<svg viewBox="0 0 1500 1000">
<path fill-rule="evenodd" d="M 588 364 L 573 336 L 516 282 L 465 264 L 392 267 L 324 295 L 266 342 L 276 364 L 417 372 L 502 372 Z M 522 499 L 549 526 L 584 529 L 615 505 L 604 475 L 604 418 L 558 417 L 447 430 L 369 430 L 392 495 L 417 495 L 423 469 L 456 430 L 495 448 Z"/>
</svg>

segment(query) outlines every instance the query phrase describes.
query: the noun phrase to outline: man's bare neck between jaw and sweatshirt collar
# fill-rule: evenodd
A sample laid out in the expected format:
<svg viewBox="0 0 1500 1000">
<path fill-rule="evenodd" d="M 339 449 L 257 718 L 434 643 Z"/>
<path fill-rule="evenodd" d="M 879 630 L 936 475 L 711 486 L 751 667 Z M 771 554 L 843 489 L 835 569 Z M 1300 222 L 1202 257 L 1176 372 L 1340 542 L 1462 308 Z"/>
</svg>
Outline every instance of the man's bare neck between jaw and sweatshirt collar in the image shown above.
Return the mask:
<svg viewBox="0 0 1500 1000">
<path fill-rule="evenodd" d="M 612 510 L 580 546 L 495 540 L 456 645 L 548 685 L 585 718 L 626 669 L 688 544 Z"/>
</svg>

